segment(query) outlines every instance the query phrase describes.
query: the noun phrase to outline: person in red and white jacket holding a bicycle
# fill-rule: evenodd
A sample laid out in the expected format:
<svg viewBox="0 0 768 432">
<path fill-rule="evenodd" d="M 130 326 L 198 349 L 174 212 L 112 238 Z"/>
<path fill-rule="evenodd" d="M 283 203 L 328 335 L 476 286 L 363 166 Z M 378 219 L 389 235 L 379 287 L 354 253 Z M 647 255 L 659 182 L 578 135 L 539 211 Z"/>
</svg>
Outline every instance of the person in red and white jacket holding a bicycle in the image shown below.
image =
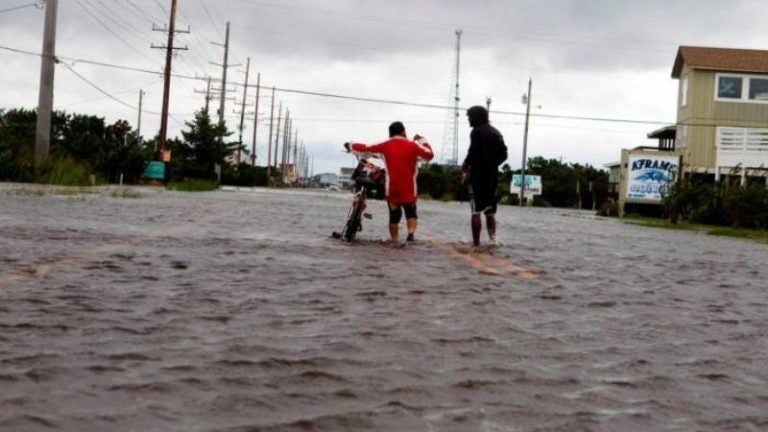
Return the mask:
<svg viewBox="0 0 768 432">
<path fill-rule="evenodd" d="M 389 236 L 393 243 L 399 241 L 400 220 L 405 211 L 407 241 L 413 241 L 416 232 L 416 175 L 419 158 L 432 160 L 432 147 L 423 138 L 417 141 L 406 138 L 405 126 L 401 122 L 389 125 L 389 139 L 376 145 L 352 143 L 351 150 L 357 152 L 378 153 L 384 159 L 387 168 L 386 197 L 389 207 Z"/>
</svg>

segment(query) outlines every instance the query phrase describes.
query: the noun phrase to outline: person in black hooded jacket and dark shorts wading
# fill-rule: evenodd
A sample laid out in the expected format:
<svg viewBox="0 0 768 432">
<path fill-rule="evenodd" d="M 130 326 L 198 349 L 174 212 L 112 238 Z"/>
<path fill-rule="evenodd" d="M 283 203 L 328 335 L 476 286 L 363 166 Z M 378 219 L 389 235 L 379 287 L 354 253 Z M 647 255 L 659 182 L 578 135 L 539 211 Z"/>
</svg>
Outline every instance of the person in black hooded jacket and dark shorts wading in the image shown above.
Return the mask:
<svg viewBox="0 0 768 432">
<path fill-rule="evenodd" d="M 488 237 L 496 243 L 496 185 L 499 181 L 499 165 L 507 160 L 504 137 L 488 123 L 488 110 L 473 106 L 467 110 L 472 133 L 469 151 L 461 166 L 462 182 L 469 181 L 469 203 L 472 208 L 472 243 L 480 246 L 483 225 L 480 214 L 485 214 Z"/>
</svg>

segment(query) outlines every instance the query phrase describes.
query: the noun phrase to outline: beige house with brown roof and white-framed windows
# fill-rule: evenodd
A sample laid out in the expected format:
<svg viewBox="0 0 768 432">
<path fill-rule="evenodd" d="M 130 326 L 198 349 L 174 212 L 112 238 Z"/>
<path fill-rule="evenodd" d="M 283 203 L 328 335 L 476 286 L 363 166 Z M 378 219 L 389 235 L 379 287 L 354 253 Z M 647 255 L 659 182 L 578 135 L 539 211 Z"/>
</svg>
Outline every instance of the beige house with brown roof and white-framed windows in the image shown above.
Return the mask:
<svg viewBox="0 0 768 432">
<path fill-rule="evenodd" d="M 768 51 L 681 46 L 672 78 L 683 172 L 768 179 Z"/>
</svg>

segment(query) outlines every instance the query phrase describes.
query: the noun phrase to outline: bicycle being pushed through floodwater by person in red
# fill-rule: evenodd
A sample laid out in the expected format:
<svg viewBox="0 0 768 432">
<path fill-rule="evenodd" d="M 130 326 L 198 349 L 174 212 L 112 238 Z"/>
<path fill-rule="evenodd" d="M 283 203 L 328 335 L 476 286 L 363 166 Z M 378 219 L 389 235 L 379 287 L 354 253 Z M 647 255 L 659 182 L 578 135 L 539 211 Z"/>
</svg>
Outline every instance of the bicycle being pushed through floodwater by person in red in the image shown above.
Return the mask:
<svg viewBox="0 0 768 432">
<path fill-rule="evenodd" d="M 347 144 L 344 147 L 349 151 Z M 363 230 L 363 218 L 372 218 L 369 213 L 365 213 L 368 199 L 384 198 L 384 179 L 386 178 L 384 168 L 368 161 L 365 155 L 356 152 L 351 153 L 357 158 L 357 167 L 351 176 L 354 181 L 352 206 L 341 232 L 334 231 L 331 234 L 334 238 L 344 239 L 348 242 L 354 241 L 357 233 Z"/>
</svg>

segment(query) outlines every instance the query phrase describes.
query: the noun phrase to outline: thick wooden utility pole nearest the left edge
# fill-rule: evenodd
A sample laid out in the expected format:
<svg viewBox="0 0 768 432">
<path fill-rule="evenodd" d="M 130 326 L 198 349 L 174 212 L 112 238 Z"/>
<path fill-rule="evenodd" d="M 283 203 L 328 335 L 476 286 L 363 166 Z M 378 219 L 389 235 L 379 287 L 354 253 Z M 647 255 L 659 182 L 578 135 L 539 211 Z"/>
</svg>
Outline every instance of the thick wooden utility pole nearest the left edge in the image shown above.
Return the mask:
<svg viewBox="0 0 768 432">
<path fill-rule="evenodd" d="M 37 100 L 37 130 L 35 132 L 35 163 L 48 159 L 51 148 L 51 116 L 53 115 L 53 77 L 56 69 L 56 16 L 59 0 L 45 5 L 43 57 L 40 62 L 40 89 Z"/>
</svg>

